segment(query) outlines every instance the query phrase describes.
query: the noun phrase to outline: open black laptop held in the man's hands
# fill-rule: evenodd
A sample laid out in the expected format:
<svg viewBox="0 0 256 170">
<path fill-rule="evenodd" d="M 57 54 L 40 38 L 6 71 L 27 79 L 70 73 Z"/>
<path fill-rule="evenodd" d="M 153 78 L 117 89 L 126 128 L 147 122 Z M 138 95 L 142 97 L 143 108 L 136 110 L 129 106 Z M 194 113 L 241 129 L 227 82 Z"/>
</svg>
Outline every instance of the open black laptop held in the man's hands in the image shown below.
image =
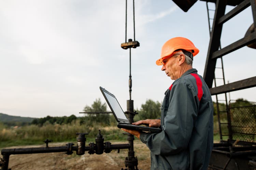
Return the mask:
<svg viewBox="0 0 256 170">
<path fill-rule="evenodd" d="M 127 119 L 122 107 L 118 103 L 116 97 L 102 87 L 100 87 L 100 91 L 102 92 L 116 121 L 118 122 L 118 124 L 117 124 L 118 128 L 124 128 L 124 129 L 136 130 L 136 131 L 146 131 L 146 132 L 161 132 L 162 131 L 162 129 L 160 129 L 160 128 L 152 128 L 152 127 L 148 127 L 148 126 L 140 126 L 140 125 L 131 124 L 129 122 L 129 120 Z"/>
</svg>

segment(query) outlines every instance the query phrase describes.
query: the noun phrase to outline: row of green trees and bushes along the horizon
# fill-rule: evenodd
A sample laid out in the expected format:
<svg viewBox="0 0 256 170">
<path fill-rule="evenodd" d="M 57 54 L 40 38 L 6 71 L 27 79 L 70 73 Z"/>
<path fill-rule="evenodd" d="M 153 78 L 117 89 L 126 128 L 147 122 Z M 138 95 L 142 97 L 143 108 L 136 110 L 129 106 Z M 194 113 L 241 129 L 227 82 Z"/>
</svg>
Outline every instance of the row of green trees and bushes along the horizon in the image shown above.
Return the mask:
<svg viewBox="0 0 256 170">
<path fill-rule="evenodd" d="M 241 102 L 242 101 L 242 102 Z M 251 104 L 245 99 L 238 99 L 236 102 L 232 103 L 232 106 L 243 106 Z M 214 105 L 214 115 L 217 114 L 216 103 L 213 102 Z M 221 111 L 226 110 L 225 103 L 219 103 L 219 109 Z M 100 125 L 114 125 L 116 124 L 116 120 L 113 114 L 104 114 L 107 111 L 106 103 L 101 102 L 100 99 L 96 99 L 93 104 L 86 105 L 83 109 L 84 112 L 89 112 L 90 114 L 85 114 L 83 117 L 76 117 L 75 115 L 71 116 L 63 116 L 63 117 L 51 117 L 47 116 L 44 118 L 34 119 L 32 124 L 42 126 L 44 123 L 50 124 L 69 124 L 72 121 L 79 120 L 80 124 L 100 124 Z M 145 103 L 141 105 L 140 109 L 135 109 L 138 115 L 134 117 L 134 121 L 143 120 L 143 119 L 156 119 L 161 117 L 161 103 L 158 101 L 153 101 L 151 99 L 147 99 Z M 100 114 L 96 114 L 102 112 Z"/>
</svg>

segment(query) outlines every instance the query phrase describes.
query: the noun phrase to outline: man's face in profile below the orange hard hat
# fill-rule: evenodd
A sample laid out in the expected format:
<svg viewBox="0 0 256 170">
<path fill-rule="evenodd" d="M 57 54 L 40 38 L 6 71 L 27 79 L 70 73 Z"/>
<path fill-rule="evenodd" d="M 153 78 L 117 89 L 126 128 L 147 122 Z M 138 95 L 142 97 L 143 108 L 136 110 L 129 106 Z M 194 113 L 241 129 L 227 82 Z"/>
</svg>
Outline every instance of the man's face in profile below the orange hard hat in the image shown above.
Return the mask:
<svg viewBox="0 0 256 170">
<path fill-rule="evenodd" d="M 179 55 L 179 54 L 176 54 Z M 176 61 L 177 58 L 174 56 L 168 58 L 166 62 L 163 62 L 163 66 L 161 68 L 162 71 L 165 71 L 166 75 L 169 76 L 172 80 L 178 79 L 177 77 L 177 66 L 178 63 Z"/>
</svg>

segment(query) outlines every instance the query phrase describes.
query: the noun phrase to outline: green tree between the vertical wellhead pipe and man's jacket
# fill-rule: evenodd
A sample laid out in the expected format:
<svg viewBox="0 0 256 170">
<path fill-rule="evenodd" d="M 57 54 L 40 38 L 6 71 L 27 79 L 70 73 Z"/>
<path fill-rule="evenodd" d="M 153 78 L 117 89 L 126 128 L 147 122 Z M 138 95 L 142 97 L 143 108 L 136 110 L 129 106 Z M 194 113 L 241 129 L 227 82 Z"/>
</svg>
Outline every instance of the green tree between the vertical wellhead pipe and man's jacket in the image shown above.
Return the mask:
<svg viewBox="0 0 256 170">
<path fill-rule="evenodd" d="M 138 111 L 138 117 L 140 120 L 144 119 L 156 119 L 161 117 L 161 103 L 154 102 L 151 99 L 146 100 L 145 104 L 141 105 L 141 109 Z"/>
</svg>

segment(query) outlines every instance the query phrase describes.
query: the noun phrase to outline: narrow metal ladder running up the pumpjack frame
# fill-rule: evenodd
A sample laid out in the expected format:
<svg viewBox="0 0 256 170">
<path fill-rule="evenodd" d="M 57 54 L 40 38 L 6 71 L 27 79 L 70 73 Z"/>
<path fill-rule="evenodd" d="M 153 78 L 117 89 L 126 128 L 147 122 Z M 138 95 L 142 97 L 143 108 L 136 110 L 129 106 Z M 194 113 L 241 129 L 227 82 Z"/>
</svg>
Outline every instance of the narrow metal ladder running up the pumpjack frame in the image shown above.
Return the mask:
<svg viewBox="0 0 256 170">
<path fill-rule="evenodd" d="M 209 24 L 209 32 L 210 32 L 210 35 L 211 35 L 211 31 L 212 31 L 212 25 L 211 25 L 211 20 L 213 20 L 214 18 L 210 16 L 209 14 L 209 11 L 214 11 L 215 12 L 215 9 L 209 9 L 209 5 L 208 5 L 209 2 L 206 2 L 206 7 L 207 7 L 207 14 L 208 14 L 208 24 Z M 216 7 L 216 6 L 215 6 Z M 221 49 L 221 43 L 219 43 L 219 49 Z M 221 67 L 215 67 L 215 70 L 216 69 L 221 69 L 222 70 L 222 77 L 221 78 L 216 78 L 215 76 L 215 73 L 214 73 L 214 86 L 217 87 L 216 85 L 216 79 L 220 79 L 223 81 L 223 85 L 225 85 L 225 77 L 224 77 L 224 68 L 223 68 L 223 60 L 222 60 L 222 57 L 219 57 L 218 59 L 221 59 Z M 217 60 L 218 60 L 217 59 Z M 218 117 L 218 125 L 219 125 L 219 135 L 220 135 L 220 139 L 221 141 L 223 140 L 223 136 L 229 136 L 229 139 L 232 140 L 232 134 L 230 131 L 231 129 L 228 130 L 228 134 L 223 134 L 222 133 L 222 125 L 227 125 L 228 127 L 231 127 L 231 122 L 230 122 L 230 114 L 229 114 L 229 107 L 228 107 L 228 100 L 227 100 L 227 94 L 225 93 L 225 99 L 224 100 L 220 100 L 218 99 L 218 95 L 215 95 L 216 96 L 216 106 L 217 106 L 217 117 Z M 226 110 L 220 110 L 219 108 L 219 102 L 223 102 L 225 101 L 226 103 Z M 222 122 L 221 120 L 221 114 L 222 113 L 226 113 L 227 114 L 227 122 Z"/>
</svg>

